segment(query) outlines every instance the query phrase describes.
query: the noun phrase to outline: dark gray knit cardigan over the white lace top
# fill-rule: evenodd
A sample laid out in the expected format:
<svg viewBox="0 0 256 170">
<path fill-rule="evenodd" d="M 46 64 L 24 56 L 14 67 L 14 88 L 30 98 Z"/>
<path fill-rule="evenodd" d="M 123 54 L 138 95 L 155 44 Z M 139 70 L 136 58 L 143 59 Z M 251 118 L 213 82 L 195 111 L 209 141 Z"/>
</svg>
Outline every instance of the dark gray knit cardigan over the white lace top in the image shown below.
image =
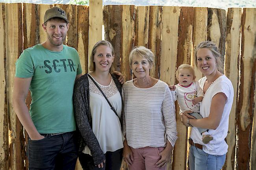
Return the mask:
<svg viewBox="0 0 256 170">
<path fill-rule="evenodd" d="M 118 76 L 115 74 L 111 74 L 111 76 L 122 98 L 122 85 L 119 83 Z M 81 153 L 84 147 L 87 145 L 91 150 L 94 164 L 98 165 L 105 160 L 105 157 L 92 130 L 92 117 L 89 109 L 89 94 L 89 81 L 87 74 L 85 74 L 76 80 L 73 93 L 74 115 L 77 125 L 77 142 L 79 153 Z M 113 112 L 113 114 L 115 113 Z M 121 118 L 119 120 L 122 120 L 122 116 L 123 113 L 121 114 Z M 120 123 L 122 127 L 122 121 Z"/>
</svg>

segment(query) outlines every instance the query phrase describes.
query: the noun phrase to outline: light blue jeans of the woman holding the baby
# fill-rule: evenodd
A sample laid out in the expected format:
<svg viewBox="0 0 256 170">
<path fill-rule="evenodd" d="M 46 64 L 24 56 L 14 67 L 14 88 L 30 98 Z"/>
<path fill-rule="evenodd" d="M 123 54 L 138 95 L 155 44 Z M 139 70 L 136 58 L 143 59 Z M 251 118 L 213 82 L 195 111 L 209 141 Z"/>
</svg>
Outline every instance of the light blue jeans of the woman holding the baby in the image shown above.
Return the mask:
<svg viewBox="0 0 256 170">
<path fill-rule="evenodd" d="M 222 156 L 210 155 L 195 146 L 190 145 L 189 169 L 190 170 L 221 170 L 226 160 L 226 154 Z"/>
</svg>

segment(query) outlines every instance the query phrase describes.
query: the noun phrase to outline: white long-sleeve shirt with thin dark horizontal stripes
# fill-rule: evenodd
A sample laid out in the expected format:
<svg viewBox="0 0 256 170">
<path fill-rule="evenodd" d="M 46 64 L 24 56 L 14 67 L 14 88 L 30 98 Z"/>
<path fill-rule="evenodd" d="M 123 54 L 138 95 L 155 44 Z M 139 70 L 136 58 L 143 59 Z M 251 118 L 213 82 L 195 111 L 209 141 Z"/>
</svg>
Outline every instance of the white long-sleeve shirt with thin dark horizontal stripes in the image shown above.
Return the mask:
<svg viewBox="0 0 256 170">
<path fill-rule="evenodd" d="M 174 146 L 177 139 L 175 107 L 170 89 L 161 80 L 150 88 L 127 81 L 124 99 L 123 135 L 132 148 Z"/>
</svg>

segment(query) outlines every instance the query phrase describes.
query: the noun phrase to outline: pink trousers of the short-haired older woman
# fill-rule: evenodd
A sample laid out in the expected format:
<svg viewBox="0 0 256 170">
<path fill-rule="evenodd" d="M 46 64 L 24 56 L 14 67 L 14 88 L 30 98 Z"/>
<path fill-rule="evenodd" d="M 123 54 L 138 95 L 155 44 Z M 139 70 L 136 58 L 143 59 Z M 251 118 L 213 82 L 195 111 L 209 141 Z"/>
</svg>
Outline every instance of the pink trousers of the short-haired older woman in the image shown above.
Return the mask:
<svg viewBox="0 0 256 170">
<path fill-rule="evenodd" d="M 132 154 L 134 161 L 132 165 L 128 166 L 129 170 L 166 170 L 167 167 L 157 168 L 156 163 L 161 159 L 160 152 L 164 150 L 165 147 L 145 147 L 132 149 Z"/>
</svg>

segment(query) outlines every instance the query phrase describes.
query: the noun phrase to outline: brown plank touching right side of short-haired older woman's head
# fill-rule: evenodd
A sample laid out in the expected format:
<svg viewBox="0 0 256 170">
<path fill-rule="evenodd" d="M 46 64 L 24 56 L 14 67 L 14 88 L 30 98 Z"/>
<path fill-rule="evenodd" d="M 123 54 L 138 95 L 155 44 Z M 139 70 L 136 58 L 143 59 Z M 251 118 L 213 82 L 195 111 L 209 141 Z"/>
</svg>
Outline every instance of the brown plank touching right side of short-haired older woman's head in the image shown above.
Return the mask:
<svg viewBox="0 0 256 170">
<path fill-rule="evenodd" d="M 155 55 L 154 65 L 150 69 L 150 76 L 160 78 L 160 57 L 161 57 L 161 30 L 162 30 L 162 6 L 150 6 L 149 28 L 148 28 L 148 49 Z"/>
</svg>

